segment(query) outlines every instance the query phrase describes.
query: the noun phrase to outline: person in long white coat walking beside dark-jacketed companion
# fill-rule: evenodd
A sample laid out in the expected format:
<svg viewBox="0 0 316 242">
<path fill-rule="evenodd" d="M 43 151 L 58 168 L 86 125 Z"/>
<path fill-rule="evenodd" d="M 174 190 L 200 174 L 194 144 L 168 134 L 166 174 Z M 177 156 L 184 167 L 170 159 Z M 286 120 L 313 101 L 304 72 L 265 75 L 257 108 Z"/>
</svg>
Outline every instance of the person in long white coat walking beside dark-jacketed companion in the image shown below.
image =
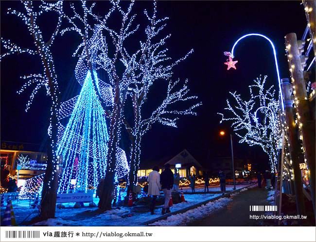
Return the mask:
<svg viewBox="0 0 316 242">
<path fill-rule="evenodd" d="M 154 214 L 156 199 L 161 191 L 159 167 L 157 165 L 155 165 L 153 171 L 149 173 L 147 181 L 149 183 L 148 195 L 153 195 L 153 200 L 150 205 L 150 214 Z"/>
</svg>

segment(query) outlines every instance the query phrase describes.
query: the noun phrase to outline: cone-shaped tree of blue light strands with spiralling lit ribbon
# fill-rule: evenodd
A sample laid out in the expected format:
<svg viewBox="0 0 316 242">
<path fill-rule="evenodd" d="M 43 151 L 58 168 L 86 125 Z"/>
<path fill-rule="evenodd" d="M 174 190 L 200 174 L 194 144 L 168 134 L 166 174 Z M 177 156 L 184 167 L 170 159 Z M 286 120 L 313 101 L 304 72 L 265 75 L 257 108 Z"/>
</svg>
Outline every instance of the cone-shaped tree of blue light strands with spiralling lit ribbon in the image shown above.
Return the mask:
<svg viewBox="0 0 316 242">
<path fill-rule="evenodd" d="M 59 120 L 70 116 L 66 128 L 59 124 L 59 145 L 56 152 L 63 156 L 65 162 L 59 192 L 96 188 L 100 178 L 104 178 L 106 174 L 109 137 L 105 113 L 106 107 L 113 105 L 114 98 L 112 87 L 98 79 L 95 71 L 96 46 L 100 46 L 102 40 L 99 27 L 95 25 L 91 38 L 85 43 L 87 48 L 83 49 L 75 68 L 75 77 L 82 85 L 81 93 L 62 103 L 59 110 Z M 93 75 L 85 63 L 87 50 L 91 55 Z M 121 148 L 117 149 L 116 160 L 117 179 L 128 172 L 126 155 Z M 71 184 L 71 180 L 75 180 L 75 184 Z"/>
</svg>

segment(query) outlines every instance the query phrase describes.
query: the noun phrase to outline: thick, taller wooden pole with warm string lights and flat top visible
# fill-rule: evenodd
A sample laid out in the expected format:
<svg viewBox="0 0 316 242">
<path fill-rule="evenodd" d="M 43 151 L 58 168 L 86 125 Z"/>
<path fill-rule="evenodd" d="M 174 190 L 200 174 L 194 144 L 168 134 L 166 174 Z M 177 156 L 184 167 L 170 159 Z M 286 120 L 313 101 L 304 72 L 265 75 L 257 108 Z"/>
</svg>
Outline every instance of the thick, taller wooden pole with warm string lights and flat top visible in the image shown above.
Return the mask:
<svg viewBox="0 0 316 242">
<path fill-rule="evenodd" d="M 288 33 L 285 36 L 285 43 L 291 79 L 293 82 L 293 94 L 295 97 L 296 108 L 298 110 L 298 128 L 301 131 L 303 150 L 308 165 L 308 180 L 311 188 L 315 216 L 315 120 L 312 120 L 312 110 L 310 101 L 307 98 L 303 68 L 300 62 L 300 52 L 303 45 L 302 43 L 299 43 L 300 46 L 298 46 L 296 33 Z"/>
</svg>

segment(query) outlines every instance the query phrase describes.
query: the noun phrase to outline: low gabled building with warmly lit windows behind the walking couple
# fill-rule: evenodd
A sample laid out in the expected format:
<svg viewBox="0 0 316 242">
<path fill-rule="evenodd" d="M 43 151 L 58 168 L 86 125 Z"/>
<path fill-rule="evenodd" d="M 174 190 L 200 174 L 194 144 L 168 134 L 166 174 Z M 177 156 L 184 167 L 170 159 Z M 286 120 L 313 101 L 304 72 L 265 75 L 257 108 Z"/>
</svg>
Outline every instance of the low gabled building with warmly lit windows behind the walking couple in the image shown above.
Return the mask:
<svg viewBox="0 0 316 242">
<path fill-rule="evenodd" d="M 166 162 L 167 161 L 167 162 Z M 140 169 L 138 171 L 138 177 L 147 177 L 152 171 L 154 165 L 158 165 L 160 168 L 159 173 L 163 171 L 165 164 L 170 164 L 171 170 L 174 172 L 174 169 L 177 168 L 180 177 L 190 177 L 190 175 L 202 176 L 205 169 L 202 165 L 195 160 L 195 158 L 185 149 L 177 154 L 171 160 L 162 159 L 160 161 L 146 162 L 140 164 Z"/>
</svg>

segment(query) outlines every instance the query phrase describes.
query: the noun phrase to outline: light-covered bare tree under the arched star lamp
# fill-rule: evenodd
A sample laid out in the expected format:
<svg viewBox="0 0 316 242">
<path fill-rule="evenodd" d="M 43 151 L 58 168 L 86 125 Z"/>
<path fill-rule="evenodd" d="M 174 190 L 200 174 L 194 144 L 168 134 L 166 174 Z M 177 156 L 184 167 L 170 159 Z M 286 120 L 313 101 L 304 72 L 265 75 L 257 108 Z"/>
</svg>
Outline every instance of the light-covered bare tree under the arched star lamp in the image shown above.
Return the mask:
<svg viewBox="0 0 316 242">
<path fill-rule="evenodd" d="M 280 123 L 279 123 L 279 101 L 275 96 L 273 86 L 264 89 L 266 76 L 263 80 L 261 76 L 254 80 L 255 84 L 250 85 L 250 99 L 244 101 L 236 92 L 231 93 L 235 98 L 235 106 L 232 106 L 227 99 L 228 110 L 232 116 L 225 118 L 223 113 L 223 121 L 232 121 L 232 128 L 235 134 L 241 138 L 239 143 L 246 142 L 248 145 L 260 145 L 265 153 L 269 155 L 271 170 L 276 172 L 278 144 L 280 139 Z M 256 116 L 258 112 L 264 114 L 263 120 L 259 122 Z"/>
</svg>

